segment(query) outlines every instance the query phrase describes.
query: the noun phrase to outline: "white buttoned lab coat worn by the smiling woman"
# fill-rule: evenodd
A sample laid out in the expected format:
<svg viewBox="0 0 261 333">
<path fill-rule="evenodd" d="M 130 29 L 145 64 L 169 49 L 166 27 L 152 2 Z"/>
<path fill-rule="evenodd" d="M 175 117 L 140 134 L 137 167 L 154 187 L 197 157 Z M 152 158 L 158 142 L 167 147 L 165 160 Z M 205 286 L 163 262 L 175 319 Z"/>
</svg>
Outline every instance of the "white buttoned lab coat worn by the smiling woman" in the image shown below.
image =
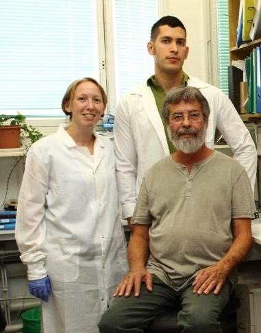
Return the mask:
<svg viewBox="0 0 261 333">
<path fill-rule="evenodd" d="M 51 279 L 45 333 L 98 333 L 128 271 L 114 167 L 110 140 L 97 136 L 92 159 L 62 127 L 27 153 L 16 242 L 29 280 Z"/>
</svg>

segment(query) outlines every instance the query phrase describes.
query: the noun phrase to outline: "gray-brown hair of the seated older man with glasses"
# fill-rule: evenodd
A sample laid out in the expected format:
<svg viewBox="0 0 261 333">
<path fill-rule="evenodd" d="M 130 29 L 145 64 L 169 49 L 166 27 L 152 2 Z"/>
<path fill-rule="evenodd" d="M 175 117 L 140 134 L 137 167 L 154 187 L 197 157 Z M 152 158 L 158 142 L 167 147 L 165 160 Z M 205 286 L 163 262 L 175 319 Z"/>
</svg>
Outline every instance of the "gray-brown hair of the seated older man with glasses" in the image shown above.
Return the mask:
<svg viewBox="0 0 261 333">
<path fill-rule="evenodd" d="M 182 86 L 179 88 L 173 88 L 169 91 L 164 99 L 162 116 L 166 123 L 169 122 L 169 106 L 172 104 L 178 104 L 181 101 L 191 102 L 198 101 L 203 111 L 204 119 L 208 123 L 208 116 L 210 115 L 210 107 L 208 101 L 202 95 L 201 91 L 195 87 Z"/>
</svg>

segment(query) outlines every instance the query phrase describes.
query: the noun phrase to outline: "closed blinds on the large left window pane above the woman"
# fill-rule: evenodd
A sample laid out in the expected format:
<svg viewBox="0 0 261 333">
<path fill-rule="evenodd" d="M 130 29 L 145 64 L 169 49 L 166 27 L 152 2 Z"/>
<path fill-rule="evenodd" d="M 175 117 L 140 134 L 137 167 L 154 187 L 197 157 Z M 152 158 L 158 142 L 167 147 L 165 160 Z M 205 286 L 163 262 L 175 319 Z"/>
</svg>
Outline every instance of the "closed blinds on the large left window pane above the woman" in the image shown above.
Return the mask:
<svg viewBox="0 0 261 333">
<path fill-rule="evenodd" d="M 99 80 L 95 0 L 0 1 L 0 113 L 56 116 L 74 79 Z"/>
</svg>

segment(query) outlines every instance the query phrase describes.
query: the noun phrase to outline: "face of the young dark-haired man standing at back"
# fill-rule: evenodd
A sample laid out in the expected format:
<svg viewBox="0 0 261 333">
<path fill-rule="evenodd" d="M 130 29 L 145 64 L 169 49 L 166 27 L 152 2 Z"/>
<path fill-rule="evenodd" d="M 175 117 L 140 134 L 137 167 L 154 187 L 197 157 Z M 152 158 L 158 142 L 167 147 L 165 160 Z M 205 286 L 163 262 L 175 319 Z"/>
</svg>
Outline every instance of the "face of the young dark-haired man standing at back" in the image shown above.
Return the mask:
<svg viewBox="0 0 261 333">
<path fill-rule="evenodd" d="M 186 32 L 181 27 L 159 27 L 159 34 L 148 43 L 148 52 L 154 56 L 155 71 L 177 74 L 182 71 L 184 60 L 188 56 Z"/>
</svg>

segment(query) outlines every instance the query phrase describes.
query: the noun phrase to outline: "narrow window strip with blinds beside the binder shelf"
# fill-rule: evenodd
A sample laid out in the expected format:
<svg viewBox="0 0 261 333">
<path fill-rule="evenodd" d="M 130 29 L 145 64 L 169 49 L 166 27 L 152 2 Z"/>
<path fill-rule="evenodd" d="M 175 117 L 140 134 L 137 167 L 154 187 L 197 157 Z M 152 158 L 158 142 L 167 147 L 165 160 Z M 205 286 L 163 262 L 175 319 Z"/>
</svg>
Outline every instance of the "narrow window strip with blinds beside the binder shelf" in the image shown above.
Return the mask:
<svg viewBox="0 0 261 333">
<path fill-rule="evenodd" d="M 227 66 L 229 66 L 229 26 L 227 0 L 217 0 L 217 28 L 219 43 L 219 88 L 228 95 Z"/>
</svg>

